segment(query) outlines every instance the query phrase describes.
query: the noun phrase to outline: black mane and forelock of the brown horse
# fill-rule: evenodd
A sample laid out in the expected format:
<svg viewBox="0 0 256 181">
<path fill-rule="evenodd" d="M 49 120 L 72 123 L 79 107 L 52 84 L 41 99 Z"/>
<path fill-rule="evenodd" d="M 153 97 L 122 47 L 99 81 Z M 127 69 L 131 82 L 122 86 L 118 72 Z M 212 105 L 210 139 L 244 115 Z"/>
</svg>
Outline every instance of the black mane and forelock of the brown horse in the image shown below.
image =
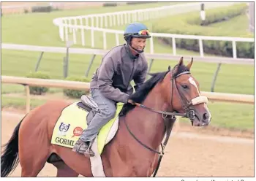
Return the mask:
<svg viewBox="0 0 256 181">
<path fill-rule="evenodd" d="M 173 75 L 173 77 L 186 71 L 189 71 L 189 69 L 187 69 L 187 66 L 181 64 L 181 66 L 178 66 L 178 71 Z M 143 85 L 135 93 L 129 96 L 129 99 L 132 99 L 132 101 L 135 101 L 137 103 L 142 103 L 146 99 L 146 96 L 148 96 L 148 93 L 154 88 L 155 85 L 157 85 L 158 82 L 162 82 L 168 72 L 170 72 L 170 68 L 167 72 L 157 72 L 150 74 L 152 77 L 144 82 Z M 121 109 L 119 115 L 126 115 L 127 112 L 129 112 L 133 108 L 135 108 L 135 105 L 129 103 L 124 104 L 124 107 Z"/>
</svg>

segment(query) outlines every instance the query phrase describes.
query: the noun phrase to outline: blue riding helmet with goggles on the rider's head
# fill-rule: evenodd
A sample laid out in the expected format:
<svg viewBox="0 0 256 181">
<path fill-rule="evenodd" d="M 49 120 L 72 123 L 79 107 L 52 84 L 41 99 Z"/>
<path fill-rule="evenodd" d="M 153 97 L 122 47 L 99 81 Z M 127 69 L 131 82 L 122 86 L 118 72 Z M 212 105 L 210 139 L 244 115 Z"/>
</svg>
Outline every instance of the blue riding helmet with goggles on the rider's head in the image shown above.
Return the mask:
<svg viewBox="0 0 256 181">
<path fill-rule="evenodd" d="M 132 37 L 151 38 L 148 28 L 143 23 L 130 23 L 124 30 L 124 39 L 129 44 Z"/>
</svg>

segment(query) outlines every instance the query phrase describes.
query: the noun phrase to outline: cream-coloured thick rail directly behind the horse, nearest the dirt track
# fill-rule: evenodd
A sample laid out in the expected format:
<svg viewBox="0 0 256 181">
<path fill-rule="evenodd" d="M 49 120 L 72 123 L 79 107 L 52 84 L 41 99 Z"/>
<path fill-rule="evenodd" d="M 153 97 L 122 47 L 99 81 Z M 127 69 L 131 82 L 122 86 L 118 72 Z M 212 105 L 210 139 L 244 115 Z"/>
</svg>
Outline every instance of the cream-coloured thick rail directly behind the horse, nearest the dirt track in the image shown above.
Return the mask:
<svg viewBox="0 0 256 181">
<path fill-rule="evenodd" d="M 45 86 L 52 88 L 68 88 L 76 90 L 88 90 L 89 82 L 75 82 L 67 80 L 44 80 L 26 77 L 1 76 L 2 83 L 20 84 L 26 87 L 26 112 L 30 111 L 30 92 L 29 86 Z M 209 101 L 225 101 L 244 104 L 254 104 L 254 96 L 233 93 L 211 93 L 201 92 L 203 96 L 207 96 Z"/>
</svg>

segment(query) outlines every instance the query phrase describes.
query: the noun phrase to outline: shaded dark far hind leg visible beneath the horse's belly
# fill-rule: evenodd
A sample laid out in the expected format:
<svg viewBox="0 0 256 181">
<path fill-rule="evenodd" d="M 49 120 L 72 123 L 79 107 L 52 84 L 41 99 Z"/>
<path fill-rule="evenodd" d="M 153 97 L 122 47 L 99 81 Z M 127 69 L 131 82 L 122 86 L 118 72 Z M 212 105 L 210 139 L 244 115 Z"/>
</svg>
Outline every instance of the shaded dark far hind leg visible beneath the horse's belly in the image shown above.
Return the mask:
<svg viewBox="0 0 256 181">
<path fill-rule="evenodd" d="M 78 173 L 70 169 L 64 161 L 57 161 L 52 163 L 57 168 L 57 177 L 78 177 Z"/>
</svg>

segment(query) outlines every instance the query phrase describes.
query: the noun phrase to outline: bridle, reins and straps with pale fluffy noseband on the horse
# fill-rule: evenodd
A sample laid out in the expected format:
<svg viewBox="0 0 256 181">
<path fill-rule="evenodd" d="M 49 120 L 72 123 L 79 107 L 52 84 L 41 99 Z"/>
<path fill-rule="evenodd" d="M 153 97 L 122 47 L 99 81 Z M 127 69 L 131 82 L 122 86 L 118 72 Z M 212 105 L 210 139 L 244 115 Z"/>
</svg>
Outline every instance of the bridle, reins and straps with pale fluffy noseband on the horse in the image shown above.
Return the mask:
<svg viewBox="0 0 256 181">
<path fill-rule="evenodd" d="M 191 74 L 191 72 L 189 71 L 185 71 L 185 72 L 181 72 L 180 74 L 177 74 L 175 77 L 174 77 L 174 70 L 177 69 L 177 65 L 173 68 L 173 70 L 171 71 L 171 85 L 172 85 L 172 88 L 170 89 L 171 90 L 171 104 L 172 104 L 172 107 L 173 107 L 173 88 L 178 92 L 178 98 L 180 99 L 181 101 L 181 106 L 182 108 L 185 110 L 185 113 L 179 113 L 179 112 L 166 112 L 166 111 L 159 111 L 159 110 L 155 110 L 155 109 L 152 109 L 150 107 L 146 107 L 144 106 L 143 104 L 139 104 L 137 102 L 135 102 L 134 104 L 138 107 L 142 107 L 143 109 L 148 109 L 149 111 L 151 112 L 157 112 L 159 114 L 162 114 L 162 118 L 165 122 L 165 133 L 166 133 L 166 136 L 165 136 L 165 142 L 164 144 L 161 143 L 161 147 L 162 147 L 162 152 L 159 152 L 157 150 L 154 150 L 152 149 L 151 147 L 148 147 L 147 145 L 145 145 L 143 142 L 141 142 L 133 133 L 132 131 L 129 129 L 129 127 L 127 126 L 127 122 L 125 120 L 125 117 L 124 117 L 124 124 L 125 126 L 127 127 L 127 130 L 129 131 L 129 134 L 131 134 L 133 136 L 133 138 L 140 143 L 140 145 L 143 145 L 143 147 L 146 147 L 146 149 L 148 150 L 151 150 L 151 152 L 154 152 L 154 153 L 157 153 L 159 154 L 159 160 L 158 160 L 158 164 L 157 164 L 157 169 L 154 171 L 154 175 L 153 177 L 156 176 L 157 174 L 157 171 L 159 169 L 159 165 L 162 161 L 162 155 L 164 155 L 164 150 L 165 150 L 165 147 L 167 145 L 167 141 L 170 137 L 170 132 L 172 131 L 172 128 L 173 128 L 173 125 L 170 126 L 170 120 L 174 121 L 176 120 L 176 117 L 175 116 L 181 116 L 182 118 L 189 118 L 191 121 L 193 121 L 195 119 L 195 110 L 193 109 L 189 109 L 189 107 L 191 107 L 192 105 L 196 105 L 196 104 L 201 104 L 201 103 L 208 103 L 208 99 L 206 96 L 197 96 L 195 97 L 194 99 L 192 99 L 191 101 L 188 101 L 186 96 L 184 96 L 183 93 L 180 93 L 180 91 L 178 90 L 178 87 L 176 85 L 176 78 L 181 76 L 181 75 L 184 75 L 184 74 Z"/>
</svg>

